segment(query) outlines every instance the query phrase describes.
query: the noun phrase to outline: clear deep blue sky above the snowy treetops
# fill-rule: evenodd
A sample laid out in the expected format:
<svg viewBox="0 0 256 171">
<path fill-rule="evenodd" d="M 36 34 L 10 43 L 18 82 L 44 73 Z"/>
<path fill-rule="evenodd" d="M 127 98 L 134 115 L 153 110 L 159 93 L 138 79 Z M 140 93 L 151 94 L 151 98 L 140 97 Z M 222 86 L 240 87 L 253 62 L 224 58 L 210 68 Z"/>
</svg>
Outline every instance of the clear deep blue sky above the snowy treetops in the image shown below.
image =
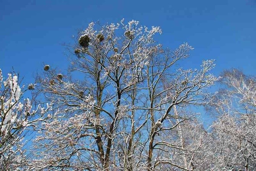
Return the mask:
<svg viewBox="0 0 256 171">
<path fill-rule="evenodd" d="M 65 69 L 70 55 L 62 44 L 74 44 L 72 35 L 91 21 L 117 23 L 138 20 L 160 26 L 159 43 L 171 49 L 189 42 L 195 49 L 185 68 L 198 67 L 202 60 L 215 59 L 215 74 L 239 68 L 255 74 L 256 1 L 0 1 L 0 68 L 12 67 L 33 82 L 42 66 Z"/>
</svg>

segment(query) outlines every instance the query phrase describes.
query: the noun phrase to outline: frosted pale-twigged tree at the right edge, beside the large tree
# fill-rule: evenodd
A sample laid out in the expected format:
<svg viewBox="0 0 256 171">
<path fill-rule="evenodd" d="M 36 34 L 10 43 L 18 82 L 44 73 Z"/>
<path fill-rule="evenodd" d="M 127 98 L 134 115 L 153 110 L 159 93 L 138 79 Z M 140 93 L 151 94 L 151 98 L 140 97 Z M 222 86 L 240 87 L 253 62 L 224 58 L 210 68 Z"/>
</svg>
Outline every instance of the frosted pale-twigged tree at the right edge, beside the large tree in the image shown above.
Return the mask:
<svg viewBox="0 0 256 171">
<path fill-rule="evenodd" d="M 256 170 L 256 79 L 233 69 L 212 106 L 219 119 L 212 125 L 214 170 Z"/>
</svg>

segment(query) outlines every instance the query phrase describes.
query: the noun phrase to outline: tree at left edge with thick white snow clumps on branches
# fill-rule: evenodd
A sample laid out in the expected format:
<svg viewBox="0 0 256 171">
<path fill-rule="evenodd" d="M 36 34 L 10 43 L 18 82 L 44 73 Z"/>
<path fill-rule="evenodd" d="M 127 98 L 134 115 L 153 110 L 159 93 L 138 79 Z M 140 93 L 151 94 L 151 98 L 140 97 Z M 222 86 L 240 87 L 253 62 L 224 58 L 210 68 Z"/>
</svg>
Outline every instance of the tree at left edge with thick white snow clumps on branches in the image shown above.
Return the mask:
<svg viewBox="0 0 256 171">
<path fill-rule="evenodd" d="M 19 170 L 27 165 L 27 154 L 24 146 L 24 136 L 37 121 L 45 119 L 45 111 L 40 105 L 32 110 L 29 98 L 22 95 L 24 87 L 19 86 L 17 74 L 8 74 L 5 79 L 0 69 L 0 170 Z M 34 89 L 30 84 L 29 90 Z M 26 90 L 25 90 L 26 91 Z M 47 117 L 46 117 L 47 118 Z"/>
</svg>

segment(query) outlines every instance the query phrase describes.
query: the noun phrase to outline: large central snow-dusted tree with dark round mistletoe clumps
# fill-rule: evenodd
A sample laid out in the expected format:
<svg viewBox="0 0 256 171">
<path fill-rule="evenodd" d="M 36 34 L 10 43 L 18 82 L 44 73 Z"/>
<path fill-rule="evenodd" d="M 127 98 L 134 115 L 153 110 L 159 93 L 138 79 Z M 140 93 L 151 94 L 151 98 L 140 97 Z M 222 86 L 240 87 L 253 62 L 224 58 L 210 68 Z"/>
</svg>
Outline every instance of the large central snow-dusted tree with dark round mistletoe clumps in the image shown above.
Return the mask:
<svg viewBox="0 0 256 171">
<path fill-rule="evenodd" d="M 209 73 L 213 60 L 182 69 L 179 62 L 193 48 L 184 43 L 163 50 L 153 39 L 160 27 L 138 24 L 90 23 L 80 33 L 70 76 L 45 66 L 38 84 L 54 111 L 38 125 L 33 169 L 193 170 L 191 157 L 180 162 L 162 155 L 178 146 L 164 139 L 193 118 L 176 108 L 211 101 L 205 90 L 217 80 Z"/>
</svg>

